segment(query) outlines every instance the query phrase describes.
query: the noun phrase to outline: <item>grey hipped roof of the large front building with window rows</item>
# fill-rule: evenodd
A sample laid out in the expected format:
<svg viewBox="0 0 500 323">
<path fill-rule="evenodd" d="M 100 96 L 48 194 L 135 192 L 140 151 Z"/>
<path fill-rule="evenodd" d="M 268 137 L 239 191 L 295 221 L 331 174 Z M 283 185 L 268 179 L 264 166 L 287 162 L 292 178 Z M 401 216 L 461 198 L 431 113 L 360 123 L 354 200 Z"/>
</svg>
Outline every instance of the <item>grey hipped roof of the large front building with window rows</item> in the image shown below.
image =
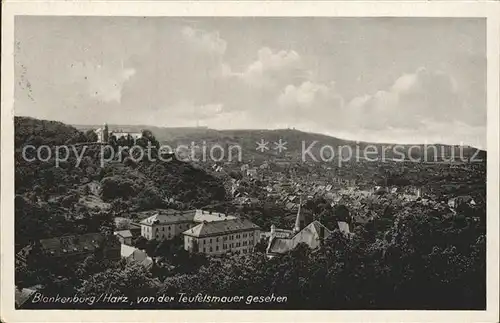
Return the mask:
<svg viewBox="0 0 500 323">
<path fill-rule="evenodd" d="M 182 234 L 192 237 L 206 237 L 224 233 L 258 230 L 259 226 L 247 219 L 231 219 L 224 221 L 203 222 L 194 228 L 184 231 Z"/>
</svg>

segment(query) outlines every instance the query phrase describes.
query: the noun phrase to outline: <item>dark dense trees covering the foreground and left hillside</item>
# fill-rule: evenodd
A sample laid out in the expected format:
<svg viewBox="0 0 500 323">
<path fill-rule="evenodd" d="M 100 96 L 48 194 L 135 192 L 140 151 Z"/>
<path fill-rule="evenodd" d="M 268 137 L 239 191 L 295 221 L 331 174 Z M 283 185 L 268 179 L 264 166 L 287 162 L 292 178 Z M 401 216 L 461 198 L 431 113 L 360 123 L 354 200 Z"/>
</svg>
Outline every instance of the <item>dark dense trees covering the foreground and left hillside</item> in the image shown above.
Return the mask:
<svg viewBox="0 0 500 323">
<path fill-rule="evenodd" d="M 33 139 L 36 136 L 40 139 Z M 110 163 L 101 167 L 99 149 L 90 149 L 79 166 L 70 158 L 64 166 L 55 167 L 53 160 L 26 162 L 20 156 L 20 149 L 27 142 L 60 145 L 68 136 L 77 142 L 85 138 L 95 141 L 90 133 L 84 135 L 59 123 L 16 118 L 16 249 L 45 237 L 109 233 L 115 229 L 114 216 L 167 207 L 171 203 L 167 199 L 184 202 L 186 207 L 212 203 L 215 209 L 245 216 L 264 230 L 271 224 L 290 228 L 293 223 L 293 212 L 269 203 L 242 208 L 219 203 L 225 199 L 221 181 L 180 161 Z M 150 133 L 144 138 L 157 143 Z M 374 177 L 373 169 L 365 172 Z M 416 175 L 402 169 L 385 178 L 398 182 L 413 176 Z M 240 178 L 237 174 L 233 177 Z M 431 181 L 432 174 L 420 178 Z M 481 176 L 471 179 L 477 184 L 479 195 L 483 189 L 481 179 L 484 180 Z M 250 192 L 253 185 L 248 184 Z M 345 199 L 332 206 L 317 198 L 305 203 L 308 220 L 320 220 L 333 231 L 322 247 L 314 251 L 301 245 L 269 260 L 264 254 L 265 244 L 259 244 L 253 254 L 207 258 L 186 252 L 180 239 L 138 238 L 134 239 L 135 246 L 154 259 L 149 270 L 140 264 L 106 261 L 99 253 L 84 261 L 65 264 L 51 263 L 40 254 L 27 268 L 16 267 L 16 283 L 43 284 L 44 293 L 68 296 L 110 293 L 127 296 L 130 301 L 125 305 L 107 303 L 92 308 L 485 308 L 484 200 L 477 199 L 477 205 L 463 205 L 456 212 L 443 212 L 436 206 L 440 204 L 425 204 L 421 199 L 403 203 L 382 196 L 376 201 L 363 201 L 357 206 Z M 371 220 L 357 223 L 355 216 L 361 212 L 372 214 Z M 352 234 L 339 232 L 337 221 L 348 222 Z M 165 294 L 177 297 L 179 293 L 274 294 L 287 297 L 287 301 L 138 304 L 139 297 Z M 61 304 L 51 306 L 60 308 Z"/>
</svg>

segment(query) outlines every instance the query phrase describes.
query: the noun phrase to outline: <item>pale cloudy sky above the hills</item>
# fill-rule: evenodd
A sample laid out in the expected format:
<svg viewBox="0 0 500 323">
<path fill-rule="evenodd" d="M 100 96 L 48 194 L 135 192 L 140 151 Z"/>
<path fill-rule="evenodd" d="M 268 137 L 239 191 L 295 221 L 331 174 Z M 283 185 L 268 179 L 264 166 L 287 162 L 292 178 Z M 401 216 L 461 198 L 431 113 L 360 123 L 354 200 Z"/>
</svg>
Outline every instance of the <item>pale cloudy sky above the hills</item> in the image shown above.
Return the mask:
<svg viewBox="0 0 500 323">
<path fill-rule="evenodd" d="M 486 148 L 480 18 L 15 21 L 15 114 Z"/>
</svg>

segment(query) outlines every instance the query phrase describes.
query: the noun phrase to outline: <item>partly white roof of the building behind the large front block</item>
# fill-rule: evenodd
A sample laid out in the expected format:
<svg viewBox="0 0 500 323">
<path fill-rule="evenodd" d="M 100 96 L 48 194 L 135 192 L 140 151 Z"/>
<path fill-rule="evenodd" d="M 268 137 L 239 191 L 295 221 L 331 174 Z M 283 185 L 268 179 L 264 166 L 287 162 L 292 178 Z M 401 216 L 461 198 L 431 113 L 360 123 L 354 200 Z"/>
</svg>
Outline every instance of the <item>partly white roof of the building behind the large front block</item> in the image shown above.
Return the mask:
<svg viewBox="0 0 500 323">
<path fill-rule="evenodd" d="M 153 212 L 148 212 L 152 214 L 147 219 L 142 220 L 140 223 L 144 225 L 152 224 L 170 224 L 179 222 L 212 222 L 221 221 L 224 219 L 236 219 L 236 217 L 231 215 L 225 215 L 223 213 L 204 211 L 204 210 L 187 210 L 179 211 L 174 209 L 158 209 Z M 146 213 L 147 214 L 147 213 Z"/>
</svg>

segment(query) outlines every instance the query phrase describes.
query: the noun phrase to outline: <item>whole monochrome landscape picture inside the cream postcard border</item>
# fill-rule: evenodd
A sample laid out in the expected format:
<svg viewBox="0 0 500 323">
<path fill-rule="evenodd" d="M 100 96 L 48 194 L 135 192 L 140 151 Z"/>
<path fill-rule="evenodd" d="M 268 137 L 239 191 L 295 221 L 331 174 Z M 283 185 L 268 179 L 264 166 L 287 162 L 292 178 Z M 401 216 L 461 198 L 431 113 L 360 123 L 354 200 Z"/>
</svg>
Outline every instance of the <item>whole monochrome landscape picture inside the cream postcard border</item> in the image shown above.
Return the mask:
<svg viewBox="0 0 500 323">
<path fill-rule="evenodd" d="M 15 310 L 498 315 L 488 19 L 15 15 Z"/>
</svg>

